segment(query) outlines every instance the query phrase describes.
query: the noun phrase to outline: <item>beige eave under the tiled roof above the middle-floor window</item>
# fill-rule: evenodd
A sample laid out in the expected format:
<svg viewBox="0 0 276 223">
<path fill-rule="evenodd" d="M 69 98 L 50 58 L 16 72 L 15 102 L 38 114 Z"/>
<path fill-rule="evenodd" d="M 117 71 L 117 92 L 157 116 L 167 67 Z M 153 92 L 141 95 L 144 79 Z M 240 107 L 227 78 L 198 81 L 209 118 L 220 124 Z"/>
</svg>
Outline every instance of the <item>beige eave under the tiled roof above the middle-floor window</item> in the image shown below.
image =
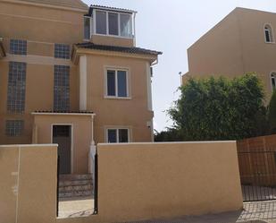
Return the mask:
<svg viewBox="0 0 276 223">
<path fill-rule="evenodd" d="M 148 60 L 150 63 L 154 63 L 158 58 L 157 55 L 146 55 L 146 54 L 143 55 L 143 54 L 133 54 L 133 53 L 123 53 L 123 52 L 116 52 L 116 51 L 98 50 L 98 49 L 77 47 L 75 45 L 72 50 L 72 57 L 71 57 L 72 62 L 74 64 L 79 64 L 79 56 L 83 56 L 83 55 L 128 57 L 128 58 Z"/>
</svg>

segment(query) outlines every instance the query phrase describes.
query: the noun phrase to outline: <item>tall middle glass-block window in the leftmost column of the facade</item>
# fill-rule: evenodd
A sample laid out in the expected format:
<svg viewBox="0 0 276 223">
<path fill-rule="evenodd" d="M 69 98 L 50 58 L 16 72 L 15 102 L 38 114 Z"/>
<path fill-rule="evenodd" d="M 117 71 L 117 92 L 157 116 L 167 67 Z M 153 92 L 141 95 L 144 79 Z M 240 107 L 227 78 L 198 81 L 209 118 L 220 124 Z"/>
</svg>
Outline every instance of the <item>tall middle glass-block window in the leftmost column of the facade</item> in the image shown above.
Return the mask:
<svg viewBox="0 0 276 223">
<path fill-rule="evenodd" d="M 22 113 L 25 108 L 26 64 L 9 63 L 7 110 L 10 113 Z"/>
</svg>

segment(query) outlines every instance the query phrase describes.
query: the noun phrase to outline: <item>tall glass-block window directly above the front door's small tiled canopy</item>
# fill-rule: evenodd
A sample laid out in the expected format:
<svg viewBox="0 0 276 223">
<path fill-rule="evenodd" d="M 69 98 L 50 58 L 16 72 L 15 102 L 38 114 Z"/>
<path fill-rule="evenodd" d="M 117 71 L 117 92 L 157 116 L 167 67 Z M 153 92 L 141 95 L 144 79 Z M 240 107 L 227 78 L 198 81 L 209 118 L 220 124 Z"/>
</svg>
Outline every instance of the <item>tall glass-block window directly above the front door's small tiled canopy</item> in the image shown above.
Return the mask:
<svg viewBox="0 0 276 223">
<path fill-rule="evenodd" d="M 70 109 L 70 66 L 54 65 L 54 111 Z"/>
</svg>

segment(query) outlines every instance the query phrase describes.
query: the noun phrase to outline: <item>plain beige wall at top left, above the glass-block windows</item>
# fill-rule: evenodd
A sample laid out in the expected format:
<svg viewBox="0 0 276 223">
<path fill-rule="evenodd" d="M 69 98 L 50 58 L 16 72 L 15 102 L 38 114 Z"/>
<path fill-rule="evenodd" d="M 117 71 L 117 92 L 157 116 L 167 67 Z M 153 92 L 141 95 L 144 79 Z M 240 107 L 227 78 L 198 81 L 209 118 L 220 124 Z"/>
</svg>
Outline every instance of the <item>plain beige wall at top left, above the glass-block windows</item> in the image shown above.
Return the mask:
<svg viewBox="0 0 276 223">
<path fill-rule="evenodd" d="M 0 36 L 51 43 L 83 40 L 81 12 L 0 1 Z"/>
</svg>

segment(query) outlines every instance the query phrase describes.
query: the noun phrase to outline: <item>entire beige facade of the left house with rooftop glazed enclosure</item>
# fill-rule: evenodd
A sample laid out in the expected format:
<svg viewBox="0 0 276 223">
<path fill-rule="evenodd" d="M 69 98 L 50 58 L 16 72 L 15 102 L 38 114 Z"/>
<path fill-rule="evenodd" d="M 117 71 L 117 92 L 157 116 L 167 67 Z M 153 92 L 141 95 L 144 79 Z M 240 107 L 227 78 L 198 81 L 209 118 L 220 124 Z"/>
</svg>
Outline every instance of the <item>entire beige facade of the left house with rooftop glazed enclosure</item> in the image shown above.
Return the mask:
<svg viewBox="0 0 276 223">
<path fill-rule="evenodd" d="M 136 12 L 80 0 L 0 0 L 0 144 L 58 143 L 63 174 L 99 142 L 152 142 L 151 66 Z"/>
</svg>

